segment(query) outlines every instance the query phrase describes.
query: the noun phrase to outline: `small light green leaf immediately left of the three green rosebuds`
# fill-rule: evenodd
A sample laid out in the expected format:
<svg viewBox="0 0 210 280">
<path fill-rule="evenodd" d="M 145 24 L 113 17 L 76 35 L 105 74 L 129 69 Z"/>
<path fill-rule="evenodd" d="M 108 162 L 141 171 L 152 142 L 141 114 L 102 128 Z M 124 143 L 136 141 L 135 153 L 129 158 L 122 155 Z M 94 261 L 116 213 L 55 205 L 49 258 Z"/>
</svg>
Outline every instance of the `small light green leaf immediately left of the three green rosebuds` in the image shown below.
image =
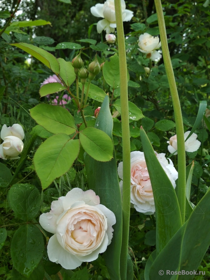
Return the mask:
<svg viewBox="0 0 210 280">
<path fill-rule="evenodd" d="M 75 81 L 76 75 L 74 73 L 74 68 L 70 61 L 65 61 L 63 58 L 58 58 L 60 64 L 60 74 L 59 76 L 65 82 L 65 84 L 70 87 L 70 85 Z"/>
</svg>

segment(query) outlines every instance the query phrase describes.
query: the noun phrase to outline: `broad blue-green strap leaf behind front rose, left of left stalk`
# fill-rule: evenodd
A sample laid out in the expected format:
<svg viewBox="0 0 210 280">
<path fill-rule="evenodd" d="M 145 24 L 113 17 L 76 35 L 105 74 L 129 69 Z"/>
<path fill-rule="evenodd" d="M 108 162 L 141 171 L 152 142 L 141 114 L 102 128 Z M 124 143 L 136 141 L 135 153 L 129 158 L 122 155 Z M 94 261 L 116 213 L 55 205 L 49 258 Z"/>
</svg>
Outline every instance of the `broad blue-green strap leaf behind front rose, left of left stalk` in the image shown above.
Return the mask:
<svg viewBox="0 0 210 280">
<path fill-rule="evenodd" d="M 103 130 L 112 138 L 113 119 L 109 109 L 108 96 L 104 98 L 96 123 L 99 123 L 98 126 L 95 125 L 97 129 Z M 119 123 L 115 122 L 115 124 Z M 98 162 L 86 154 L 85 166 L 89 186 L 99 195 L 100 203 L 115 213 L 116 224 L 113 226 L 113 238 L 103 255 L 111 279 L 119 280 L 119 259 L 122 240 L 122 206 L 115 151 L 113 156 L 114 158 L 109 162 Z M 106 172 L 104 172 L 105 170 Z M 107 174 L 109 174 L 109 176 L 107 176 Z"/>
</svg>

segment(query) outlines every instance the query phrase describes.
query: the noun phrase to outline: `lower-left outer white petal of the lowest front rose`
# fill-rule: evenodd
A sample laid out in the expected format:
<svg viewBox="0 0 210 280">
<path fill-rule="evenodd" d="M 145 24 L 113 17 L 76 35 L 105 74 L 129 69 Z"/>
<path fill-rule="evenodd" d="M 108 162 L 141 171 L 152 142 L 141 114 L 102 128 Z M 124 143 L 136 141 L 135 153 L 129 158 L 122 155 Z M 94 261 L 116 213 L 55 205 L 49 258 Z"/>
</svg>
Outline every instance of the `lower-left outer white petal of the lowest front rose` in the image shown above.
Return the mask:
<svg viewBox="0 0 210 280">
<path fill-rule="evenodd" d="M 56 234 L 49 239 L 47 254 L 50 261 L 60 263 L 65 269 L 75 269 L 82 264 L 75 255 L 60 246 Z"/>
</svg>

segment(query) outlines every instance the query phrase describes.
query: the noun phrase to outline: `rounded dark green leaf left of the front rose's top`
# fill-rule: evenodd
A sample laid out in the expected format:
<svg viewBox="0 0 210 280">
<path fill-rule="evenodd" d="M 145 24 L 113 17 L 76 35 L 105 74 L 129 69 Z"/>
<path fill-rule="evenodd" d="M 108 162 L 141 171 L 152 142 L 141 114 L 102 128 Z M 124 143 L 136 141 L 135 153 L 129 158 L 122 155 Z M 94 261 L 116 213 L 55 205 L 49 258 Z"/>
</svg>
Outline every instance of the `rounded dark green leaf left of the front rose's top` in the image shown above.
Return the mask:
<svg viewBox="0 0 210 280">
<path fill-rule="evenodd" d="M 25 222 L 31 221 L 39 212 L 41 195 L 33 185 L 13 185 L 9 190 L 8 199 L 15 215 Z"/>
</svg>

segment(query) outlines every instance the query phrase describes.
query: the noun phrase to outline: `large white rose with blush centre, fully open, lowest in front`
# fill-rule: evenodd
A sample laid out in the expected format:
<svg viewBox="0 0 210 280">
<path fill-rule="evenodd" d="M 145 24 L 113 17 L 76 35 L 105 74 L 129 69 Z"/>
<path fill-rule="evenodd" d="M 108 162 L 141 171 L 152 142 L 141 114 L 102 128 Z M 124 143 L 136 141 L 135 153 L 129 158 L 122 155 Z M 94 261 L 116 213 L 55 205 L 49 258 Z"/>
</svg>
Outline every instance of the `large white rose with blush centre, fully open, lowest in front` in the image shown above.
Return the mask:
<svg viewBox="0 0 210 280">
<path fill-rule="evenodd" d="M 50 261 L 75 269 L 106 251 L 116 219 L 112 211 L 100 204 L 93 190 L 74 188 L 53 201 L 51 211 L 40 215 L 39 222 L 54 233 L 47 245 Z"/>
</svg>

